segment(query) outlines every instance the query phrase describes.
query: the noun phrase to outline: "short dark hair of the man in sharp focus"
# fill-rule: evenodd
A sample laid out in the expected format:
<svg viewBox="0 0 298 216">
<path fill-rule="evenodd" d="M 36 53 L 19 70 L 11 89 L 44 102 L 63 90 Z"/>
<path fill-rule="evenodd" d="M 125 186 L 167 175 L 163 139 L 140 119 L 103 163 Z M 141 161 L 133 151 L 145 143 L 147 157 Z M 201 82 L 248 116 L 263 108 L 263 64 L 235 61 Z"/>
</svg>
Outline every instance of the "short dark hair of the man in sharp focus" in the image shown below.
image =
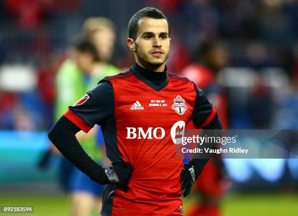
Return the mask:
<svg viewBox="0 0 298 216">
<path fill-rule="evenodd" d="M 168 19 L 160 10 L 154 7 L 145 7 L 138 12 L 136 12 L 131 18 L 128 25 L 128 34 L 130 38 L 135 39 L 136 33 L 138 31 L 138 21 L 143 18 L 154 18 L 154 19 L 166 19 L 168 23 Z M 168 35 L 169 35 L 169 25 L 168 25 Z"/>
</svg>

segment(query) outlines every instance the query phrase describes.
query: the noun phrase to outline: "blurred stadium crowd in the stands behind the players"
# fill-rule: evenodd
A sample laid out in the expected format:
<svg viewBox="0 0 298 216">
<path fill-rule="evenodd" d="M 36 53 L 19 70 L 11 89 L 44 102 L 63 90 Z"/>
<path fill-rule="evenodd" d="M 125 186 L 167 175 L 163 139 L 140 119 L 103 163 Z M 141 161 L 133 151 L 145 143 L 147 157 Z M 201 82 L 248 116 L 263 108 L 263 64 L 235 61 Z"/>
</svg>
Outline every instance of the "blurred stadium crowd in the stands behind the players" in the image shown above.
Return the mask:
<svg viewBox="0 0 298 216">
<path fill-rule="evenodd" d="M 211 49 L 210 61 L 221 68 L 218 77 L 228 94 L 230 128 L 297 127 L 295 0 L 3 0 L 0 4 L 0 129 L 52 126 L 56 72 L 88 17 L 103 16 L 115 23 L 112 63 L 130 67 L 133 56 L 123 38 L 129 17 L 143 6 L 163 10 L 171 23 L 170 72 L 180 73 L 191 62 L 202 63 L 198 51 L 204 44 L 221 44 L 222 49 Z"/>
</svg>

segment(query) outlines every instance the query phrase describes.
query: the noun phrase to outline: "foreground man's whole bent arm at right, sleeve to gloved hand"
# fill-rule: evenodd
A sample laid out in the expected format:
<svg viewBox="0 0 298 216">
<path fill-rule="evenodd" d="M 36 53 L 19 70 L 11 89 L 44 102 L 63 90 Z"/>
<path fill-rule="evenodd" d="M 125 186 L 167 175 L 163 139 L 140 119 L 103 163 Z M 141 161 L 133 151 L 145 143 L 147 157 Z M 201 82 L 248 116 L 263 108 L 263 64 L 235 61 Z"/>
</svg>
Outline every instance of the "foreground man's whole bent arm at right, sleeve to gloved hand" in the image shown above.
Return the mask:
<svg viewBox="0 0 298 216">
<path fill-rule="evenodd" d="M 203 90 L 200 90 L 195 84 L 194 86 L 196 100 L 190 120 L 193 121 L 196 128 L 203 129 L 202 134 L 217 137 L 223 129 L 221 121 Z M 192 185 L 198 179 L 208 161 L 209 159 L 200 159 L 194 155 L 188 163 L 183 164 L 180 180 L 182 182 L 181 189 L 184 197 L 189 194 Z"/>
</svg>

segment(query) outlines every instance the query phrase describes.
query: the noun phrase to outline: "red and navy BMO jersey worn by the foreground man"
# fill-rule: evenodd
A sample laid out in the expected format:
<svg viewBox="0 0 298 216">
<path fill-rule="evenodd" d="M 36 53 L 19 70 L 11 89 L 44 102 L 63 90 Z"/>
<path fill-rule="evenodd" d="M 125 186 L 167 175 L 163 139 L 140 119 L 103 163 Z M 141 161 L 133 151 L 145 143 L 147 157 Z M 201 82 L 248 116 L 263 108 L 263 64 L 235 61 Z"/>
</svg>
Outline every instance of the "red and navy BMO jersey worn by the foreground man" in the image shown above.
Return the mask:
<svg viewBox="0 0 298 216">
<path fill-rule="evenodd" d="M 215 110 L 186 77 L 167 72 L 157 86 L 136 67 L 107 76 L 64 116 L 85 132 L 100 125 L 107 157 L 133 167 L 128 192 L 106 187 L 101 215 L 182 215 L 177 139 L 190 120 L 205 126 Z"/>
</svg>

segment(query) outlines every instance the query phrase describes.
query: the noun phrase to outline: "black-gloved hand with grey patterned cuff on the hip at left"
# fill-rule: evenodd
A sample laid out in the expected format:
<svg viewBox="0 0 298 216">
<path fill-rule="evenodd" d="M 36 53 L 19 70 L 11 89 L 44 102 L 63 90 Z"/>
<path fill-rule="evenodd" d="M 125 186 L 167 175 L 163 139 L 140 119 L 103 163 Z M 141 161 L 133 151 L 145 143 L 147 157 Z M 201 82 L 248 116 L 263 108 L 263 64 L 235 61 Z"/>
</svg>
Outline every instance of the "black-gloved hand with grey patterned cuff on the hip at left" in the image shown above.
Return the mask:
<svg viewBox="0 0 298 216">
<path fill-rule="evenodd" d="M 132 166 L 128 162 L 114 163 L 112 166 L 105 168 L 105 173 L 109 181 L 116 184 L 122 191 L 129 191 L 128 182 L 132 174 Z"/>
</svg>

